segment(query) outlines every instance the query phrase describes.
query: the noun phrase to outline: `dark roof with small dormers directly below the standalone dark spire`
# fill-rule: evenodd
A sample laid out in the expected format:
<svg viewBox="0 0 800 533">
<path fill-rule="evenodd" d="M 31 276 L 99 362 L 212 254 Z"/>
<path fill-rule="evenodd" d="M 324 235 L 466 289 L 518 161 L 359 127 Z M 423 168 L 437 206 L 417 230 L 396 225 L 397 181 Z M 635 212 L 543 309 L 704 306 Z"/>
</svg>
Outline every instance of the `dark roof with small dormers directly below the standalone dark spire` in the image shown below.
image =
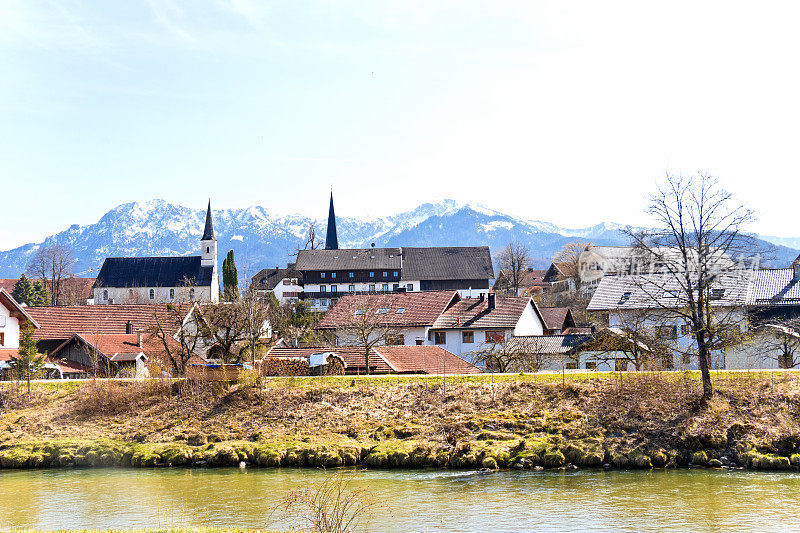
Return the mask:
<svg viewBox="0 0 800 533">
<path fill-rule="evenodd" d="M 300 250 L 297 252 L 297 270 L 400 270 L 400 253 L 400 248 Z"/>
</svg>

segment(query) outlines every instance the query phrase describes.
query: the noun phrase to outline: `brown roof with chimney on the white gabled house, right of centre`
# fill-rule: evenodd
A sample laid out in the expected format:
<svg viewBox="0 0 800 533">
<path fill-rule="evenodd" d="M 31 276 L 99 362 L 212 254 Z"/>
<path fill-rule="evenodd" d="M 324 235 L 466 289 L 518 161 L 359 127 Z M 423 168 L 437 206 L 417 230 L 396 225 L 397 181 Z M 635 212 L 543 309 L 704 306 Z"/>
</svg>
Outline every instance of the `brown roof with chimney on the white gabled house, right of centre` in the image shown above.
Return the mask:
<svg viewBox="0 0 800 533">
<path fill-rule="evenodd" d="M 433 327 L 513 328 L 528 304 L 532 304 L 528 296 L 497 296 L 494 309 L 489 309 L 488 298 L 465 298 L 448 307 Z"/>
</svg>

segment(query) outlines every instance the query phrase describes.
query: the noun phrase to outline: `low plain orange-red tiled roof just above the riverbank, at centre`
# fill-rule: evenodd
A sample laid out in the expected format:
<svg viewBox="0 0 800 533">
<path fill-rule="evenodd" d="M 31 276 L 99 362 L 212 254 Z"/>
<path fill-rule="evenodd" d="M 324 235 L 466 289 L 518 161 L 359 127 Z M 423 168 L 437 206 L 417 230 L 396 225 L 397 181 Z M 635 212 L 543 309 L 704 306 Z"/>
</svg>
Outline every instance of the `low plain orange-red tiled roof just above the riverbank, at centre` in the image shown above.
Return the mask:
<svg viewBox="0 0 800 533">
<path fill-rule="evenodd" d="M 480 374 L 481 370 L 441 346 L 376 346 L 399 373 Z"/>
</svg>

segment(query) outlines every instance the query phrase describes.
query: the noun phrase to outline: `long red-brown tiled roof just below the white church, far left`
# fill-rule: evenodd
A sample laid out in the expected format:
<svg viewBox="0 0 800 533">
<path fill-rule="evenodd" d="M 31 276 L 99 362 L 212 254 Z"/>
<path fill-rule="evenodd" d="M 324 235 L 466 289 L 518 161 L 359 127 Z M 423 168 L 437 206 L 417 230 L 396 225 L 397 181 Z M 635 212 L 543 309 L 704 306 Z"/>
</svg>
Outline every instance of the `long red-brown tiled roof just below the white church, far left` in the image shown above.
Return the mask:
<svg viewBox="0 0 800 533">
<path fill-rule="evenodd" d="M 164 317 L 168 314 L 165 305 L 69 305 L 25 310 L 39 324 L 36 340 L 68 339 L 74 333 L 123 335 L 129 320 L 134 331 L 149 330 L 156 324 L 157 313 Z"/>
</svg>

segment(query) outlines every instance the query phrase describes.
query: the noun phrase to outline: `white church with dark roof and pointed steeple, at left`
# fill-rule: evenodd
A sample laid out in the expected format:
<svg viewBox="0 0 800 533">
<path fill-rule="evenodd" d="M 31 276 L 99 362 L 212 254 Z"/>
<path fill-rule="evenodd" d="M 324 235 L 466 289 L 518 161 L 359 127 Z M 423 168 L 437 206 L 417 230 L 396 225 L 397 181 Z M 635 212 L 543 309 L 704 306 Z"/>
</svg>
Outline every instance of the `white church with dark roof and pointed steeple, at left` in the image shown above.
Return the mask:
<svg viewBox="0 0 800 533">
<path fill-rule="evenodd" d="M 200 239 L 200 255 L 108 257 L 93 288 L 95 304 L 218 302 L 217 238 L 211 200 Z"/>
</svg>

